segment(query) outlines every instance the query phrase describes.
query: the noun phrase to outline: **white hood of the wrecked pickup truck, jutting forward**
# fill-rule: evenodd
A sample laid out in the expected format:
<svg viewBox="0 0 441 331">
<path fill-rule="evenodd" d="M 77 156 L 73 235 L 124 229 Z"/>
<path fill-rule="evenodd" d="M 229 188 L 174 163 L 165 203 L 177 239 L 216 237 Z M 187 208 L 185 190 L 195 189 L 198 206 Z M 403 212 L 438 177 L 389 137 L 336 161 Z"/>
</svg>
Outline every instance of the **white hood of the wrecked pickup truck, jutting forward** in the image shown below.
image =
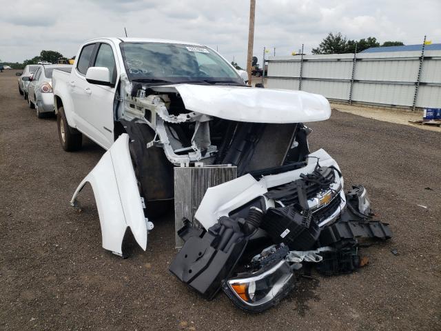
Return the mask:
<svg viewBox="0 0 441 331">
<path fill-rule="evenodd" d="M 255 123 L 324 121 L 331 116 L 325 97 L 302 91 L 242 86 L 174 85 L 192 112 Z"/>
</svg>

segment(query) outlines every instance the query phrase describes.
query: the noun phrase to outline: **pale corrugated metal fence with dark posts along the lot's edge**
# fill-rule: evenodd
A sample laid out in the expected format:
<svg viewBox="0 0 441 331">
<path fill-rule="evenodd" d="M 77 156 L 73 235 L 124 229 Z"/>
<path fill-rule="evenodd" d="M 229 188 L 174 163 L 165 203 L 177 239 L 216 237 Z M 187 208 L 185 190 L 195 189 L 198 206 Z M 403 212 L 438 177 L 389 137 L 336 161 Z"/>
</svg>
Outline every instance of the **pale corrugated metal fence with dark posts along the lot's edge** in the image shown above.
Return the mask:
<svg viewBox="0 0 441 331">
<path fill-rule="evenodd" d="M 423 60 L 413 51 L 358 53 L 355 59 L 354 54 L 270 57 L 267 87 L 300 88 L 341 101 L 441 108 L 441 51 L 426 51 Z"/>
</svg>

